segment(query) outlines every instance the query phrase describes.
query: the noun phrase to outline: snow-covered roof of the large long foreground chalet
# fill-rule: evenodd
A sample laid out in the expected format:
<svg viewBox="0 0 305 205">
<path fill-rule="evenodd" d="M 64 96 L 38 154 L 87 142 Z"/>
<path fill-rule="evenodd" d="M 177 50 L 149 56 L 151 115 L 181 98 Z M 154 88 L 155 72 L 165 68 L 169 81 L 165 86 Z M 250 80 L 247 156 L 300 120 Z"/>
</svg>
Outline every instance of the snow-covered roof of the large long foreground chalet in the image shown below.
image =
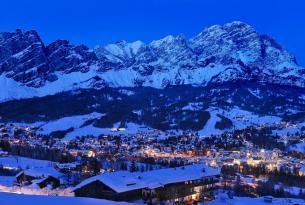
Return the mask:
<svg viewBox="0 0 305 205">
<path fill-rule="evenodd" d="M 205 171 L 203 171 L 205 170 Z M 118 171 L 88 178 L 74 187 L 77 190 L 87 184 L 100 181 L 121 193 L 142 188 L 157 188 L 166 184 L 197 180 L 202 177 L 219 175 L 220 171 L 203 164 L 178 168 L 158 169 L 148 172 Z"/>
</svg>

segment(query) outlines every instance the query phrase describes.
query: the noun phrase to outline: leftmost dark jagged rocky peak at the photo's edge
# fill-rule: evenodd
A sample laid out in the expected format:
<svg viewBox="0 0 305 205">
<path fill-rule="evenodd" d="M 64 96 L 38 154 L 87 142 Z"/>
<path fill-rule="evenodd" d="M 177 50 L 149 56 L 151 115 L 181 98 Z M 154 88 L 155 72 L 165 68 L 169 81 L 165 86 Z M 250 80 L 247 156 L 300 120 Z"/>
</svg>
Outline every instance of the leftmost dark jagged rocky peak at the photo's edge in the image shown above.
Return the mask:
<svg viewBox="0 0 305 205">
<path fill-rule="evenodd" d="M 17 29 L 0 36 L 0 75 L 28 86 L 41 86 L 41 79 L 49 78 L 50 67 L 37 32 Z"/>
</svg>

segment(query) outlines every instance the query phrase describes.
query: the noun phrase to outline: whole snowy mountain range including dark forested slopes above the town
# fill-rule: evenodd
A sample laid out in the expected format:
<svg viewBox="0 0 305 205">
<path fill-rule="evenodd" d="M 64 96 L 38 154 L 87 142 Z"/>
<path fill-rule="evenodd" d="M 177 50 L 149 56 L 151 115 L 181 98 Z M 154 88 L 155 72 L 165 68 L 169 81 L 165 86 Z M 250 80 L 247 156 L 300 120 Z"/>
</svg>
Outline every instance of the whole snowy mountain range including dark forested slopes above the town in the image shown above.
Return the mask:
<svg viewBox="0 0 305 205">
<path fill-rule="evenodd" d="M 305 69 L 242 22 L 193 38 L 119 41 L 89 49 L 35 31 L 0 33 L 0 123 L 53 137 L 141 129 L 200 135 L 266 125 L 305 130 Z"/>
</svg>

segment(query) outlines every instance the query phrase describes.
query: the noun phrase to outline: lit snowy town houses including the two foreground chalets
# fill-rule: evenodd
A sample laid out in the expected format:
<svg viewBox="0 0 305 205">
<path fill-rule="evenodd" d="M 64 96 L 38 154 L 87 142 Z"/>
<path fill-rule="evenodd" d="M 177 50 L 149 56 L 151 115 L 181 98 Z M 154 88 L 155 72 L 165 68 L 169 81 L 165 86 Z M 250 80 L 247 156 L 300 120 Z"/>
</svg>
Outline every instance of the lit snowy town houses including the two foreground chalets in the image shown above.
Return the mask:
<svg viewBox="0 0 305 205">
<path fill-rule="evenodd" d="M 67 175 L 87 172 L 87 169 L 81 167 L 83 164 L 80 162 L 89 162 L 91 159 L 100 160 L 98 161 L 100 164 L 103 159 L 111 162 L 135 161 L 161 166 L 149 171 L 148 169 L 137 171 L 139 170 L 137 169 L 133 172 L 120 168 L 97 167 L 97 172 L 88 172 L 86 179 L 80 180 L 81 182 L 73 188 L 77 197 L 116 201 L 143 200 L 147 203 L 199 201 L 213 196 L 213 190 L 220 176 L 219 170 L 224 165 L 264 166 L 270 171 L 285 167 L 294 173 L 297 170 L 299 176 L 305 176 L 305 161 L 291 157 L 279 149 L 257 148 L 251 141 L 245 140 L 242 134 L 235 136 L 228 133 L 224 138 L 216 138 L 216 141 L 201 139 L 194 133 L 164 135 L 158 132 L 98 138 L 81 137 L 63 141 L 35 135 L 35 130 L 30 128 L 18 127 L 18 132 L 11 132 L 10 129 L 16 127 L 0 129 L 2 141 L 9 142 L 13 146 L 30 147 L 29 150 L 35 147 L 42 147 L 45 150 L 54 149 L 56 152 L 73 157 L 71 162 L 56 163 L 54 167 L 21 171 L 16 176 L 20 186 L 48 189 L 72 186 L 67 182 Z M 238 149 L 226 149 L 226 145 L 229 144 L 233 144 Z M 218 145 L 224 145 L 225 148 L 219 148 Z M 11 153 L 0 151 L 3 157 L 8 154 Z M 151 161 L 143 162 L 147 159 Z M 179 162 L 179 165 L 188 165 L 164 168 L 172 164 L 161 164 L 172 161 Z"/>
</svg>

